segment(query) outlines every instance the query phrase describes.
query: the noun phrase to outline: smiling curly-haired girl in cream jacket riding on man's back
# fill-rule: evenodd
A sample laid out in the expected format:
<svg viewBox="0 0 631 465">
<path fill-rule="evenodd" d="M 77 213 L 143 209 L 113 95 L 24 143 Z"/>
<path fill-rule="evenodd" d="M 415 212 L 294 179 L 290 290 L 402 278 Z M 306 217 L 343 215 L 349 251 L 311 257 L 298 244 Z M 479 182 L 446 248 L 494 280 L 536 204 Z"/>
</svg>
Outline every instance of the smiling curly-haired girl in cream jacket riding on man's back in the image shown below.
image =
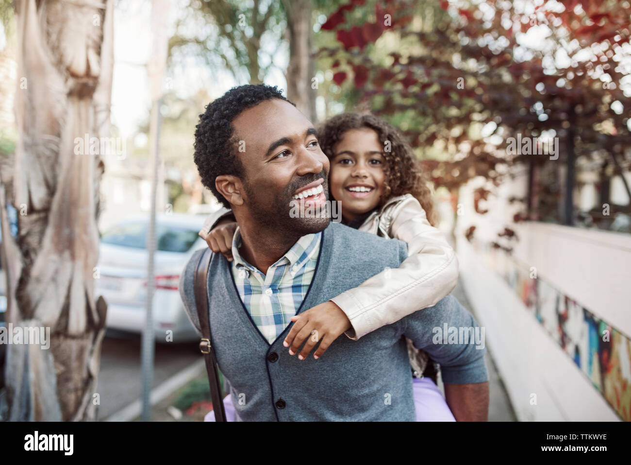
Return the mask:
<svg viewBox="0 0 631 465">
<path fill-rule="evenodd" d="M 433 227 L 434 210 L 427 179 L 417 167 L 415 156 L 398 130 L 369 114 L 341 114 L 329 119 L 319 130 L 318 141 L 329 157 L 329 200 L 341 202 L 344 224 L 384 238 L 408 243 L 408 258 L 398 269 L 386 269 L 355 289 L 336 296 L 292 318 L 285 339 L 290 354 L 304 358 L 314 346 L 300 334 L 326 325 L 351 327 L 346 336 L 360 339 L 384 325 L 414 311 L 435 305 L 456 286 L 458 263 L 444 236 Z M 230 210 L 222 208 L 209 217 L 199 235 L 215 252 L 232 260 L 232 237 L 237 224 Z M 331 321 L 327 307 L 334 305 L 348 317 Z M 327 320 L 328 318 L 328 320 Z M 303 330 L 301 332 L 302 329 Z M 428 328 L 428 331 L 431 329 Z M 338 337 L 344 329 L 333 334 Z M 324 334 L 322 330 L 318 334 Z M 417 421 L 454 421 L 445 399 L 430 379 L 433 363 L 427 353 L 408 343 L 413 376 Z M 322 345 L 322 344 L 321 344 Z M 309 346 L 309 347 L 307 347 Z M 322 356 L 326 347 L 315 351 Z M 326 361 L 324 361 L 326 363 Z M 425 376 L 424 376 L 425 374 Z M 233 418 L 231 396 L 224 399 L 228 420 Z M 213 421 L 213 412 L 206 420 Z"/>
</svg>

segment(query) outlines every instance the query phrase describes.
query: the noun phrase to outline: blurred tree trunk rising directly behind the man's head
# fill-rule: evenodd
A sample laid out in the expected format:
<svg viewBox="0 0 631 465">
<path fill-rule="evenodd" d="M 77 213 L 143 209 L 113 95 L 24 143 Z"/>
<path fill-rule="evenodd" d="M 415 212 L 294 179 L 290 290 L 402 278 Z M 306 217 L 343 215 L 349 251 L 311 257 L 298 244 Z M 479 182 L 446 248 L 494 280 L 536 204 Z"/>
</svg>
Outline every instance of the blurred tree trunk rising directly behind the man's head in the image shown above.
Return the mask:
<svg viewBox="0 0 631 465">
<path fill-rule="evenodd" d="M 289 64 L 287 66 L 287 98 L 315 123 L 315 96 L 312 88 L 315 64 L 311 57 L 313 27 L 310 0 L 283 0 L 289 32 Z"/>
</svg>

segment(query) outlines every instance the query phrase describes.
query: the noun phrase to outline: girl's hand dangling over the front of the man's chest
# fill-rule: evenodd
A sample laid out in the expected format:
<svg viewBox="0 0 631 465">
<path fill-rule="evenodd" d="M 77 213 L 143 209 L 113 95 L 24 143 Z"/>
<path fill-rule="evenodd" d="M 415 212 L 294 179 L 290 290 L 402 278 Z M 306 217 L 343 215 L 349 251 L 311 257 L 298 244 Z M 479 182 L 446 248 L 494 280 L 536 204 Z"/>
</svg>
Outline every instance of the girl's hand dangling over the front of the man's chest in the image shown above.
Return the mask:
<svg viewBox="0 0 631 465">
<path fill-rule="evenodd" d="M 289 354 L 294 355 L 307 340 L 307 343 L 298 354 L 298 358 L 304 360 L 317 342 L 320 346 L 314 353 L 314 358 L 320 358 L 340 334 L 351 328 L 351 322 L 335 303 L 327 301 L 306 310 L 300 315 L 292 317 L 293 326 L 283 345 L 290 347 Z"/>
</svg>

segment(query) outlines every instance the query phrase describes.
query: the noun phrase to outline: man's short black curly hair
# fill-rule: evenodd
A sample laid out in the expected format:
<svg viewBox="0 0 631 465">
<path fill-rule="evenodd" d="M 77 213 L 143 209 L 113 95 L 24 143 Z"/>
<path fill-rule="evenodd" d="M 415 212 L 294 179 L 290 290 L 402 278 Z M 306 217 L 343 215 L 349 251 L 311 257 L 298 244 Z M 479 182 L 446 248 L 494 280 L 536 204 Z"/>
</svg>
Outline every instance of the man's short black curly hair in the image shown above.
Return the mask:
<svg viewBox="0 0 631 465">
<path fill-rule="evenodd" d="M 242 111 L 270 99 L 281 99 L 294 105 L 285 99 L 275 86 L 247 84 L 228 90 L 220 98 L 209 103 L 206 112 L 199 115 L 199 124 L 195 126 L 193 159 L 202 184 L 209 188 L 226 208 L 230 208 L 230 203 L 216 190 L 215 178 L 221 174 L 244 177 L 243 166 L 237 157 L 239 140 L 234 134 L 232 121 Z"/>
</svg>

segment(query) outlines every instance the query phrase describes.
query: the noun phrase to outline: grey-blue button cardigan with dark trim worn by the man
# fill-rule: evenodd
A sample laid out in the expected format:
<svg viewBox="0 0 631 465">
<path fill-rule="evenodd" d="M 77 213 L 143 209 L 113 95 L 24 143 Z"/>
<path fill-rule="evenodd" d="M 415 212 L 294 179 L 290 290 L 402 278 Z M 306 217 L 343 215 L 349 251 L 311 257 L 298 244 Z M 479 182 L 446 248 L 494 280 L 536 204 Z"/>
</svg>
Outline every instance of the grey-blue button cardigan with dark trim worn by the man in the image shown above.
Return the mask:
<svg viewBox="0 0 631 465">
<path fill-rule="evenodd" d="M 199 334 L 193 290 L 196 251 L 180 276 L 180 295 Z M 407 245 L 331 222 L 322 234 L 313 281 L 297 313 L 357 287 L 386 267 L 397 268 Z M 252 322 L 234 284 L 231 263 L 211 257 L 208 298 L 212 343 L 230 383 L 235 420 L 415 421 L 410 361 L 404 335 L 440 363 L 445 383 L 488 380 L 485 349 L 435 344 L 433 328 L 477 327 L 451 295 L 396 323 L 351 341 L 338 337 L 326 353 L 304 361 L 283 347 L 289 327 L 269 344 Z M 446 339 L 445 339 L 446 341 Z"/>
</svg>

